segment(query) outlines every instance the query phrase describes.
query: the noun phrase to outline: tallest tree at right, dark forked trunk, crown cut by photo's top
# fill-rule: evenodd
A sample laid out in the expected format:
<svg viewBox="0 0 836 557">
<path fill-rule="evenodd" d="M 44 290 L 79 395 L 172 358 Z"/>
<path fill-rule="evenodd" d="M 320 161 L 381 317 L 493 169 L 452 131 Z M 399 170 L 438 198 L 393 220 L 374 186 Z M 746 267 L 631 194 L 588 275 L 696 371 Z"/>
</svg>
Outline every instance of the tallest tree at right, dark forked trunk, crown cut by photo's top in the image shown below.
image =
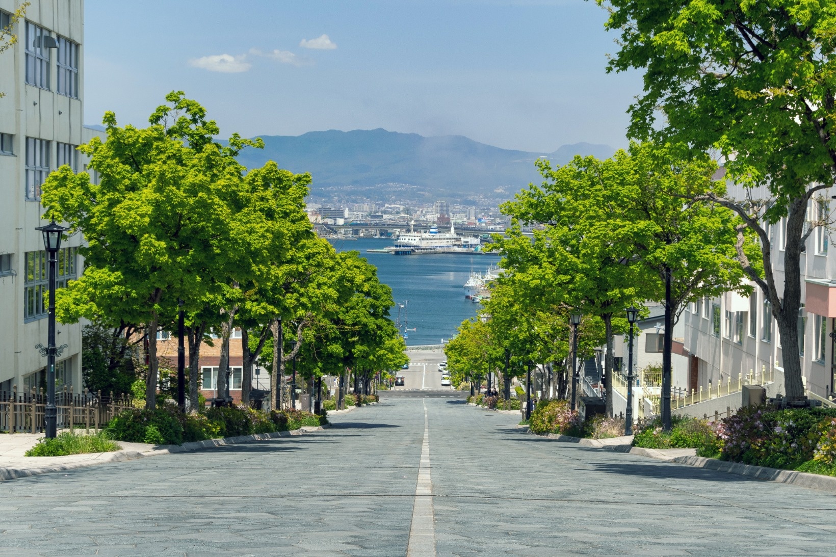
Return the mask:
<svg viewBox="0 0 836 557">
<path fill-rule="evenodd" d="M 716 150 L 744 187 L 709 199 L 757 234 L 762 267 L 738 249 L 747 276 L 770 301 L 781 335 L 785 392 L 804 396 L 797 357 L 801 254 L 832 219 L 823 191 L 836 175 L 836 2 L 822 0 L 596 0 L 620 33 L 608 71 L 645 70 L 630 106 L 630 135 Z M 814 200 L 823 210 L 808 216 Z M 770 226 L 783 219 L 783 281 L 772 265 Z M 783 284 L 782 284 L 783 283 Z"/>
</svg>

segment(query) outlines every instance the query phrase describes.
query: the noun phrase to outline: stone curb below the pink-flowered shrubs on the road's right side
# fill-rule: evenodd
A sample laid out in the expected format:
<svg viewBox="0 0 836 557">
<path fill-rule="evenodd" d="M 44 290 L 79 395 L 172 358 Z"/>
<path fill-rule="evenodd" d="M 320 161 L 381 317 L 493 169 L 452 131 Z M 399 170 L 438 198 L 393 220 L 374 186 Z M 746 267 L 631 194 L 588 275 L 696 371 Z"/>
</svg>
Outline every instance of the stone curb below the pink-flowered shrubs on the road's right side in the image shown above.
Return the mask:
<svg viewBox="0 0 836 557">
<path fill-rule="evenodd" d="M 532 433 L 530 429 L 527 429 L 526 432 L 531 433 L 532 435 L 538 435 L 537 433 Z M 683 464 L 685 466 L 703 468 L 705 470 L 714 470 L 716 472 L 729 473 L 736 476 L 746 476 L 747 478 L 755 478 L 765 480 L 767 482 L 788 483 L 790 485 L 798 485 L 802 488 L 819 489 L 822 491 L 836 493 L 836 478 L 833 476 L 796 472 L 794 470 L 782 470 L 780 468 L 767 468 L 765 466 L 742 464 L 741 462 L 726 462 L 716 458 L 696 456 L 674 457 L 670 454 L 660 452 L 657 449 L 633 447 L 632 445 L 623 444 L 604 445 L 599 441 L 599 439 L 582 439 L 580 437 L 556 435 L 554 433 L 548 433 L 547 435 L 540 435 L 538 437 L 548 437 L 549 439 L 560 442 L 578 443 L 584 447 L 601 448 L 605 451 L 635 454 L 640 457 L 654 458 L 655 460 L 661 460 L 664 462 Z"/>
</svg>

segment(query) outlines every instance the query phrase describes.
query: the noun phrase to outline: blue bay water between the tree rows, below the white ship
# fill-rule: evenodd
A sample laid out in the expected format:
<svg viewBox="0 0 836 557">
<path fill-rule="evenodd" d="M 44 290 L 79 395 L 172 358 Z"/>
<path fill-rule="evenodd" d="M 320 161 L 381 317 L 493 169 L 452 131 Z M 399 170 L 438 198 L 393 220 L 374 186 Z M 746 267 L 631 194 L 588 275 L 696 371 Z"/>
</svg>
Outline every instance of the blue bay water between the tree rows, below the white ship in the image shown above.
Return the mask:
<svg viewBox="0 0 836 557">
<path fill-rule="evenodd" d="M 482 309 L 481 304 L 465 299 L 463 287 L 471 270 L 484 274 L 489 265 L 499 263 L 495 255 L 366 253 L 369 248 L 392 245 L 390 240 L 375 238 L 330 242 L 338 252 L 359 251 L 361 257 L 375 265 L 380 282 L 392 289 L 392 320 L 398 317 L 398 304 L 403 304 L 400 330 L 416 329 L 406 331 L 406 344 L 410 346 L 438 345 L 442 339 L 446 342 L 456 335 L 459 324 Z"/>
</svg>

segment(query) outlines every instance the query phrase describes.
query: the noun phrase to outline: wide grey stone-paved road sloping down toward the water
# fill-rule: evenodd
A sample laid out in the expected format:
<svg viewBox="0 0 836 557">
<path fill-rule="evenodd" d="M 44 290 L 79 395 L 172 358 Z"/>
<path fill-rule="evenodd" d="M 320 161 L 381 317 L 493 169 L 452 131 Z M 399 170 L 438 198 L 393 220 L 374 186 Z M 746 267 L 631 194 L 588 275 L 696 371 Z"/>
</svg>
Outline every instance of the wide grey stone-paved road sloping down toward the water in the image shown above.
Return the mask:
<svg viewBox="0 0 836 557">
<path fill-rule="evenodd" d="M 517 420 L 398 398 L 311 435 L 0 483 L 0 554 L 418 557 L 427 539 L 439 555 L 836 553 L 830 493 L 548 441 Z"/>
</svg>

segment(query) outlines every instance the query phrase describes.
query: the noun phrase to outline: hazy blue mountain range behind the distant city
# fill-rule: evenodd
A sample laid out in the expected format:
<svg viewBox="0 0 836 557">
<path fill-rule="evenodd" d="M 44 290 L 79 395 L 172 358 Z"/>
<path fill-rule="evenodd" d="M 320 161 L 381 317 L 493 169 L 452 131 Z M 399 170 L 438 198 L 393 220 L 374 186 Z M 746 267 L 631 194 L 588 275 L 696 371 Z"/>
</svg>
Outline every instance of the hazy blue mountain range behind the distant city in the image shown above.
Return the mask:
<svg viewBox="0 0 836 557">
<path fill-rule="evenodd" d="M 424 137 L 383 129 L 261 137 L 264 149 L 242 151 L 242 164 L 262 166 L 273 160 L 293 172 L 310 172 L 314 192 L 390 182 L 455 197 L 488 194 L 497 188 L 515 192 L 530 181 L 540 181 L 533 165 L 538 157 L 565 164 L 577 154 L 608 157 L 615 151 L 605 145 L 578 143 L 553 153 L 530 153 L 500 149 L 462 135 Z"/>
</svg>

